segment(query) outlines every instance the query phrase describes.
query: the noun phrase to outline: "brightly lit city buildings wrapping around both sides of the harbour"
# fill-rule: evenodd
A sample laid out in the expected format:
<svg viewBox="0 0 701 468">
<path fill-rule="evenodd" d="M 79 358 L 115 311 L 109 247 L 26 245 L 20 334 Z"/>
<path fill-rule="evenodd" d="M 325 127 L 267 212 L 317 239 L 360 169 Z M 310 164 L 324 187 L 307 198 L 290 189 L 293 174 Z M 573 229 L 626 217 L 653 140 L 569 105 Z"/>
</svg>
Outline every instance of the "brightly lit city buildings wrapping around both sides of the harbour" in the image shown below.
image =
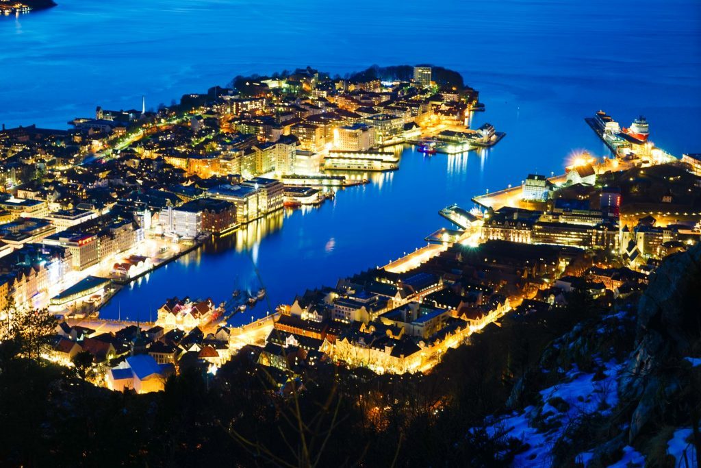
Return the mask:
<svg viewBox="0 0 701 468">
<path fill-rule="evenodd" d="M 662 258 L 698 241 L 701 156 L 655 147 L 644 119 L 622 128 L 598 112 L 587 123 L 611 156 L 579 154 L 563 175 L 524 174 L 472 208 L 442 208 L 454 229 L 426 246 L 247 326 L 224 320 L 245 297 L 233 308 L 172 297 L 147 324 L 95 318 L 118 285 L 210 236 L 397 168 L 396 145 L 450 154 L 503 137 L 468 128 L 484 107 L 452 72 L 395 67 L 402 79 L 386 80 L 371 70 L 237 77 L 158 112 L 98 107 L 70 131 L 3 128 L 4 314 L 60 314 L 46 358 L 70 366 L 88 351 L 95 383 L 110 389 L 158 391 L 172 373 L 216 374 L 243 353 L 284 393 L 319 366 L 428 372 L 505 314 L 562 308 L 573 290 L 604 303 L 632 295 Z"/>
</svg>

